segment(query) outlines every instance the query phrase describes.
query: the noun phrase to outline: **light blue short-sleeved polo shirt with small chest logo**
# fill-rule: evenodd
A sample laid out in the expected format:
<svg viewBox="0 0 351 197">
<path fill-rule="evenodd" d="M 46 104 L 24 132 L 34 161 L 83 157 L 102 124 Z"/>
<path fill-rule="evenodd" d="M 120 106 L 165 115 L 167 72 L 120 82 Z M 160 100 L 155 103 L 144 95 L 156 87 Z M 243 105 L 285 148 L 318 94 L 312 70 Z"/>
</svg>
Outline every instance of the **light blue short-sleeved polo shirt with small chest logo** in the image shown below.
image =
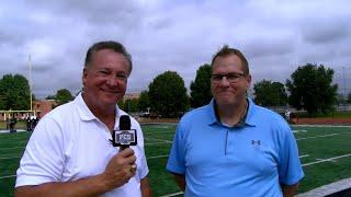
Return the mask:
<svg viewBox="0 0 351 197">
<path fill-rule="evenodd" d="M 295 138 L 276 113 L 249 100 L 245 125 L 228 127 L 214 100 L 180 120 L 167 170 L 185 174 L 185 196 L 282 196 L 304 172 Z"/>
</svg>

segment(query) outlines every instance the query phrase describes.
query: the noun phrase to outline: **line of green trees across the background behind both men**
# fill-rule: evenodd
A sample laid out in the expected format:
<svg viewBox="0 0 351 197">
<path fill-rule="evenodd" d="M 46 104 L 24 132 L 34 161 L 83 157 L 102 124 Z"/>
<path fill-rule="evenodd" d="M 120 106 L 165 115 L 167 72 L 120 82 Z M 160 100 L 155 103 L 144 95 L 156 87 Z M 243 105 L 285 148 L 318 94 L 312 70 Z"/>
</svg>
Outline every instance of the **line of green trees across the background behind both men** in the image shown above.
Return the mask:
<svg viewBox="0 0 351 197">
<path fill-rule="evenodd" d="M 157 76 L 140 93 L 138 99 L 118 102 L 126 112 L 152 112 L 162 117 L 180 117 L 190 108 L 208 104 L 211 94 L 212 68 L 205 63 L 196 70 L 196 77 L 190 84 L 190 95 L 183 79 L 176 71 L 166 71 Z M 338 85 L 332 84 L 333 70 L 324 65 L 306 63 L 298 67 L 285 84 L 262 80 L 253 84 L 254 102 L 267 107 L 290 105 L 305 109 L 309 115 L 329 113 L 340 102 L 351 103 L 351 92 L 344 99 L 337 93 Z M 0 80 L 0 109 L 30 108 L 29 81 L 21 74 L 5 74 Z M 60 89 L 55 100 L 61 105 L 73 100 L 67 89 Z"/>
</svg>

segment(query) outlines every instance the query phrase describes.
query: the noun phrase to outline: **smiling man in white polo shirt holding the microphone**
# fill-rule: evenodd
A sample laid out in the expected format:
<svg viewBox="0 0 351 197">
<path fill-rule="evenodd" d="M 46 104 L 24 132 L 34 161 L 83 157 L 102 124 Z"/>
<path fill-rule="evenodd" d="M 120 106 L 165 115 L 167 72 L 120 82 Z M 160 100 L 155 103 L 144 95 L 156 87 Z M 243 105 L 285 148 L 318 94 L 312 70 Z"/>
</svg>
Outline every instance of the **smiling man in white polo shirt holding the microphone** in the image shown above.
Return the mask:
<svg viewBox="0 0 351 197">
<path fill-rule="evenodd" d="M 15 196 L 150 196 L 139 124 L 137 146 L 110 142 L 126 115 L 116 103 L 125 94 L 132 57 L 116 42 L 100 42 L 87 53 L 83 91 L 44 116 L 21 159 Z"/>
</svg>

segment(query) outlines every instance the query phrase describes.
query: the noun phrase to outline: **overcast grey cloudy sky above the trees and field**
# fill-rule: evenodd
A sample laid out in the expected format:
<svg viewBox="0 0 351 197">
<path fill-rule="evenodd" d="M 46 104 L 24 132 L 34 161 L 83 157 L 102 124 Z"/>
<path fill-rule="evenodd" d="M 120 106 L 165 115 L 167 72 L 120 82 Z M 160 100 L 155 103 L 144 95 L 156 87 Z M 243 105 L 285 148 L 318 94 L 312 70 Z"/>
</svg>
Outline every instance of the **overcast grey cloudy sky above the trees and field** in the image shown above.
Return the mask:
<svg viewBox="0 0 351 197">
<path fill-rule="evenodd" d="M 113 39 L 133 57 L 127 92 L 147 90 L 167 70 L 189 89 L 197 68 L 228 44 L 247 56 L 253 83 L 284 83 L 312 62 L 335 69 L 340 92 L 349 92 L 350 8 L 349 0 L 2 0 L 0 77 L 29 79 L 31 54 L 37 97 L 75 94 L 88 47 Z"/>
</svg>

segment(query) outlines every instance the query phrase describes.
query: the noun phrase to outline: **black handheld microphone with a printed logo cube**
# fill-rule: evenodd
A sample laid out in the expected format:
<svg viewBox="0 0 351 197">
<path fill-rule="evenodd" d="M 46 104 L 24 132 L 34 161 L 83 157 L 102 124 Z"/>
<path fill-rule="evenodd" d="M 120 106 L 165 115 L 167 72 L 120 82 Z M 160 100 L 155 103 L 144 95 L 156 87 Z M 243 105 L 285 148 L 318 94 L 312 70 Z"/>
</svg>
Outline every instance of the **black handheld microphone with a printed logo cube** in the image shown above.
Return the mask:
<svg viewBox="0 0 351 197">
<path fill-rule="evenodd" d="M 137 144 L 136 130 L 131 129 L 131 117 L 128 115 L 120 117 L 120 130 L 113 130 L 112 144 L 113 147 L 120 147 L 121 150 Z"/>
</svg>

